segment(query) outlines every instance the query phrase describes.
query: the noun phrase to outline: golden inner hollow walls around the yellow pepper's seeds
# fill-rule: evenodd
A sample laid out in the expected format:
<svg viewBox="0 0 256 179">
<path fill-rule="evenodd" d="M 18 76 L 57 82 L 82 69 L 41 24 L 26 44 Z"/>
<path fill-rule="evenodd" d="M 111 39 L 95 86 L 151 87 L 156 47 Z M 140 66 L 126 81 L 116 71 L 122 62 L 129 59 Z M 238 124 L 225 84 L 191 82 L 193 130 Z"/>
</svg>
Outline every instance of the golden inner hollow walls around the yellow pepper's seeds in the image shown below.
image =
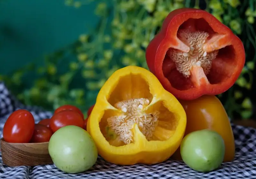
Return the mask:
<svg viewBox="0 0 256 179">
<path fill-rule="evenodd" d="M 109 98 L 107 100 L 109 104 L 115 106 L 119 101 L 130 100 L 132 98 L 147 98 L 152 102 L 153 95 L 150 93 L 149 84 L 141 75 L 129 74 L 121 77 L 117 85 L 113 86 L 112 92 L 109 94 Z M 149 105 L 145 112 L 150 113 L 156 110 L 160 112 L 160 115 L 158 118 L 158 125 L 156 126 L 151 140 L 164 141 L 174 134 L 178 124 L 178 119 L 175 116 L 175 113 L 172 113 L 164 106 L 164 101 L 159 100 L 154 104 Z M 106 109 L 104 111 L 104 115 L 100 119 L 100 131 L 110 145 L 125 145 L 124 142 L 116 140 L 116 138 L 107 137 L 108 132 L 106 131 L 108 117 L 121 114 L 122 111 L 120 110 Z"/>
</svg>

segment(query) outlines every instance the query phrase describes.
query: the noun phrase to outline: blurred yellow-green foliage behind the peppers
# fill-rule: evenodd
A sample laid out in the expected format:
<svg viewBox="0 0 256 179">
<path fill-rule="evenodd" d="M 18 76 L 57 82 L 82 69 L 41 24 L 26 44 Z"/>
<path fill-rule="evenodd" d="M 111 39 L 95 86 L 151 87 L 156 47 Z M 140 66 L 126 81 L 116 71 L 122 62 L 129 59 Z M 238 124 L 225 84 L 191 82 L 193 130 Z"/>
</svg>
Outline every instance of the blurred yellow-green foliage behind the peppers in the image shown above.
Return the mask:
<svg viewBox="0 0 256 179">
<path fill-rule="evenodd" d="M 66 0 L 65 4 L 79 8 L 92 1 Z M 0 77 L 21 101 L 48 110 L 69 103 L 86 113 L 95 102 L 101 86 L 118 68 L 127 65 L 148 68 L 145 49 L 170 11 L 195 7 L 212 13 L 243 41 L 246 51 L 244 70 L 236 84 L 218 97 L 231 118 L 234 115 L 243 119 L 252 116 L 252 101 L 248 91 L 252 88 L 252 72 L 256 60 L 255 0 L 95 2 L 95 15 L 100 21 L 91 33 L 81 34 L 78 40 L 68 47 L 45 56 L 43 66 L 28 65 L 15 71 L 12 76 Z M 34 86 L 25 89 L 22 79 L 31 71 L 36 71 L 38 78 L 34 81 Z"/>
</svg>

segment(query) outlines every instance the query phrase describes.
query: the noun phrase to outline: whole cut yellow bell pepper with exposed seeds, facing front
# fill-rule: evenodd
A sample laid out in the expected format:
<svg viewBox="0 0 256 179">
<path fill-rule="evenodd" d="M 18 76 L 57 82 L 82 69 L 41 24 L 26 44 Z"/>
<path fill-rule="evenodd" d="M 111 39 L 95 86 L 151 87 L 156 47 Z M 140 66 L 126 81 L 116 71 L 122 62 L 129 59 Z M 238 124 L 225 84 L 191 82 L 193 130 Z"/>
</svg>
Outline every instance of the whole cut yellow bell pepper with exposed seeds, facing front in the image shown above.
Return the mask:
<svg viewBox="0 0 256 179">
<path fill-rule="evenodd" d="M 108 78 L 87 122 L 100 156 L 120 165 L 167 160 L 185 129 L 180 102 L 150 71 L 136 66 L 119 69 Z"/>
</svg>

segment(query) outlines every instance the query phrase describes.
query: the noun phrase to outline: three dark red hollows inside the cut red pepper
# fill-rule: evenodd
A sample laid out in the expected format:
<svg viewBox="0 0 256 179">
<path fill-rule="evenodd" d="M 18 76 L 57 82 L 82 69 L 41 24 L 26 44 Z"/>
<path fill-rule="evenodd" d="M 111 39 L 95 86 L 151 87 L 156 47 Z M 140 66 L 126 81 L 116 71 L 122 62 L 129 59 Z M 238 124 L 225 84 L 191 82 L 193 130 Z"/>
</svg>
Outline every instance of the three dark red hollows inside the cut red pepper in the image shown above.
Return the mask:
<svg viewBox="0 0 256 179">
<path fill-rule="evenodd" d="M 209 33 L 208 39 L 218 33 L 214 32 L 209 24 L 203 19 L 188 19 L 180 25 L 180 29 L 198 30 Z M 211 71 L 206 75 L 210 84 L 224 82 L 231 77 L 235 68 L 235 50 L 232 45 L 219 49 L 217 57 L 212 60 Z M 176 70 L 175 63 L 168 55 L 165 56 L 163 62 L 164 76 L 170 81 L 172 87 L 178 90 L 187 90 L 195 88 L 190 78 L 185 78 L 179 71 Z"/>
</svg>

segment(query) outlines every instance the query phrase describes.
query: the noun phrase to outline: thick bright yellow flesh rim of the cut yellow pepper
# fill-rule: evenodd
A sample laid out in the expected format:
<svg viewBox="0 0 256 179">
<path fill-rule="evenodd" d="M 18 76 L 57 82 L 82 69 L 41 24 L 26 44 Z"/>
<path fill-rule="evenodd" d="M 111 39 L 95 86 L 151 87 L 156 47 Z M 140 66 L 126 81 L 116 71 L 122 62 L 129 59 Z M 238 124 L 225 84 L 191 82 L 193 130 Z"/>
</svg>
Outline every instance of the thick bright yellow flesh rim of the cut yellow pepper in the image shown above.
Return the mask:
<svg viewBox="0 0 256 179">
<path fill-rule="evenodd" d="M 178 122 L 175 131 L 173 131 L 169 139 L 164 141 L 148 141 L 140 132 L 137 124 L 134 124 L 132 130 L 134 135 L 133 143 L 116 147 L 110 145 L 103 136 L 99 123 L 104 115 L 104 111 L 108 109 L 118 111 L 108 102 L 108 99 L 111 93 L 113 93 L 115 86 L 119 83 L 119 79 L 129 75 L 139 75 L 148 83 L 149 92 L 153 96 L 149 106 L 157 101 L 163 101 L 164 107 L 174 114 Z M 127 80 L 126 83 L 132 83 L 132 80 L 133 78 L 131 78 L 131 81 Z M 140 91 L 137 92 L 134 92 L 134 88 L 131 89 L 132 92 L 129 91 L 129 93 L 132 94 L 123 94 L 123 96 L 129 96 L 127 99 L 133 98 L 138 93 L 141 95 L 145 93 L 143 88 L 140 88 Z M 123 90 L 125 90 L 125 86 Z M 118 96 L 119 94 L 116 95 Z M 158 79 L 150 71 L 137 66 L 121 68 L 108 78 L 98 93 L 95 106 L 87 122 L 87 131 L 95 141 L 100 156 L 108 162 L 119 165 L 133 165 L 136 163 L 155 164 L 167 160 L 179 147 L 185 129 L 186 113 L 180 102 L 171 93 L 164 90 Z"/>
</svg>

